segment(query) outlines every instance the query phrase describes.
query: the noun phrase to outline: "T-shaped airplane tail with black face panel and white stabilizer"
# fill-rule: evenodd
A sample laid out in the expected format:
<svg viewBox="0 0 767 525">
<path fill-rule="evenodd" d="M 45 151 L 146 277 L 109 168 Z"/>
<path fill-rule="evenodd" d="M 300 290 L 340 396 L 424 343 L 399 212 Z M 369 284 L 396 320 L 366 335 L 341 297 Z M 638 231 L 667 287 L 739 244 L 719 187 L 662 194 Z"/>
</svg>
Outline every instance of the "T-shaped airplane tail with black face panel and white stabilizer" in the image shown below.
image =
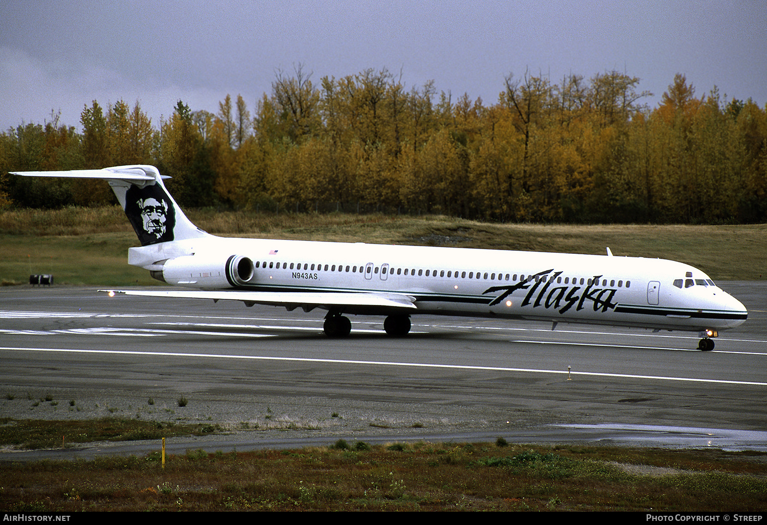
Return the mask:
<svg viewBox="0 0 767 525">
<path fill-rule="evenodd" d="M 209 234 L 195 226 L 170 196 L 154 166 L 135 164 L 101 170 L 17 171 L 25 177 L 75 177 L 107 180 L 141 245 L 198 239 Z"/>
</svg>

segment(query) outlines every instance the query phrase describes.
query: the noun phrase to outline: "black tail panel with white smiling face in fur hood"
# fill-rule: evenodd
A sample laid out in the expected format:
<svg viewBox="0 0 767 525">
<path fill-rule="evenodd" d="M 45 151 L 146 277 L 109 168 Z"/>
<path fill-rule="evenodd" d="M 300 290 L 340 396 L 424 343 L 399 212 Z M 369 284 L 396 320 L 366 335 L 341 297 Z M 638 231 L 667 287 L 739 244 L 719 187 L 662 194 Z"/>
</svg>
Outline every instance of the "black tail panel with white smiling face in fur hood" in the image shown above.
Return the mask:
<svg viewBox="0 0 767 525">
<path fill-rule="evenodd" d="M 125 196 L 125 214 L 142 246 L 173 240 L 176 226 L 173 204 L 157 184 L 131 186 Z"/>
</svg>

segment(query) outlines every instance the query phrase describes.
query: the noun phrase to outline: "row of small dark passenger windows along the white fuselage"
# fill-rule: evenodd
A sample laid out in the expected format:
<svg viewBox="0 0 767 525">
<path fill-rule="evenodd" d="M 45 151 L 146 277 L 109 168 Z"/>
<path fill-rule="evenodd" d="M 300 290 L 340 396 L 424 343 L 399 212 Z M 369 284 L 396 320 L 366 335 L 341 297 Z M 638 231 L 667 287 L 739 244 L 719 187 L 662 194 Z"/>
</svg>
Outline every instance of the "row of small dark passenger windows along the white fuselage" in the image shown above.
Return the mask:
<svg viewBox="0 0 767 525">
<path fill-rule="evenodd" d="M 466 272 L 459 270 L 436 270 L 436 269 L 415 269 L 415 268 L 393 268 L 381 269 L 379 266 L 354 266 L 354 265 L 322 265 L 322 264 L 310 264 L 310 263 L 275 263 L 273 261 L 257 261 L 255 263 L 256 268 L 268 268 L 268 269 L 291 269 L 298 271 L 324 271 L 324 272 L 349 272 L 349 273 L 374 273 L 388 272 L 389 275 L 397 276 L 426 276 L 426 277 L 447 277 L 448 279 L 484 279 L 486 281 L 509 281 L 509 282 L 522 282 L 522 281 L 542 281 L 548 279 L 550 282 L 557 282 L 557 284 L 565 285 L 599 285 L 598 279 L 594 278 L 578 278 L 578 277 L 562 277 L 557 276 L 526 276 L 524 274 L 509 274 L 509 273 L 495 273 L 495 272 Z M 624 282 L 623 280 L 616 281 L 615 279 L 602 279 L 601 285 L 607 286 L 610 283 L 611 287 L 629 288 L 631 286 L 630 281 Z M 676 284 L 676 282 L 675 282 Z"/>
</svg>

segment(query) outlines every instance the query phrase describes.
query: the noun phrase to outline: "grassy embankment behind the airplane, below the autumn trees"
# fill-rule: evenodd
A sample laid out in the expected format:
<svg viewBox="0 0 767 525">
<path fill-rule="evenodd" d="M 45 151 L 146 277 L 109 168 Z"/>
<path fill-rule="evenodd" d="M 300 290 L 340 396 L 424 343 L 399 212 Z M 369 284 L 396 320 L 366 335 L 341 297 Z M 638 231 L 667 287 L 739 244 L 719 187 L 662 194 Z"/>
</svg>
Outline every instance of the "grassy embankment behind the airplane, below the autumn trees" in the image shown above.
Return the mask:
<svg viewBox="0 0 767 525">
<path fill-rule="evenodd" d="M 210 233 L 273 239 L 522 249 L 661 257 L 690 263 L 719 280 L 767 278 L 767 225 L 489 224 L 443 216 L 288 214 L 189 210 Z M 158 284 L 127 266 L 137 239 L 119 206 L 0 212 L 0 281 L 49 273 L 58 284 Z"/>
</svg>

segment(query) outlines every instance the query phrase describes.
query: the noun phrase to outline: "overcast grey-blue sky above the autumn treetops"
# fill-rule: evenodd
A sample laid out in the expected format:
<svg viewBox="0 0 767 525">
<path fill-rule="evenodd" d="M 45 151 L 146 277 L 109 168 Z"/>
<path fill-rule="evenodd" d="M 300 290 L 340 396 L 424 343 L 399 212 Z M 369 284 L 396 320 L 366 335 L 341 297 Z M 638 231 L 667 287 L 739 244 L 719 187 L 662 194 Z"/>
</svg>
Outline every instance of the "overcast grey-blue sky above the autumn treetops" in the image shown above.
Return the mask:
<svg viewBox="0 0 767 525">
<path fill-rule="evenodd" d="M 138 101 L 153 125 L 183 100 L 218 112 L 242 94 L 253 113 L 275 71 L 318 85 L 388 68 L 407 89 L 498 100 L 509 73 L 591 78 L 625 71 L 657 105 L 674 74 L 696 95 L 767 103 L 763 0 L 351 2 L 348 0 L 5 0 L 0 5 L 0 130 L 80 126 L 91 101 Z"/>
</svg>

